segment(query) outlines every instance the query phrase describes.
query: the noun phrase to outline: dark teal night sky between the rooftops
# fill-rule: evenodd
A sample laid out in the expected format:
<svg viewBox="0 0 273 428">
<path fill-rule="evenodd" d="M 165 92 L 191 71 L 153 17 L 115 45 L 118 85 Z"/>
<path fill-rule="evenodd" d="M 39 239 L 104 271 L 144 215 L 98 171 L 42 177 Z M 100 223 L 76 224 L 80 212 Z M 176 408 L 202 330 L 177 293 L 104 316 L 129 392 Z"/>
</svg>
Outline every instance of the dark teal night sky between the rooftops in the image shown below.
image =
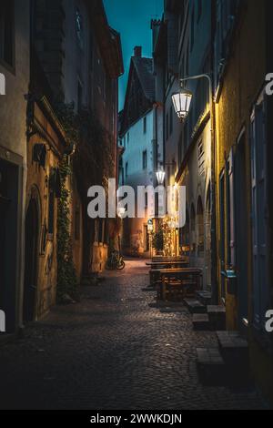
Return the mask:
<svg viewBox="0 0 273 428">
<path fill-rule="evenodd" d="M 119 82 L 119 109 L 123 108 L 130 57 L 135 46 L 152 56 L 150 20 L 161 18 L 164 0 L 104 0 L 108 23 L 121 34 L 125 75 Z"/>
</svg>

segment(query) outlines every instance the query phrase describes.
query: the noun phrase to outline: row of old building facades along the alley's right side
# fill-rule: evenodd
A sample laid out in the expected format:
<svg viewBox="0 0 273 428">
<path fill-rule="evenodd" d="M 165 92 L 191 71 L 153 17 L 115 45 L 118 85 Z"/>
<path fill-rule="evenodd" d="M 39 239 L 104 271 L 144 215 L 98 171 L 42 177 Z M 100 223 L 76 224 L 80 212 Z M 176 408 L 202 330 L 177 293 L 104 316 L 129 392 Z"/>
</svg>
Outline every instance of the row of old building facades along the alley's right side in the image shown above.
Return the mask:
<svg viewBox="0 0 273 428">
<path fill-rule="evenodd" d="M 156 81 L 164 93 L 166 184 L 187 187 L 178 250 L 203 269 L 203 288 L 225 308 L 227 331 L 248 338 L 252 373 L 268 397 L 272 100 L 265 77 L 272 67 L 271 12 L 267 1 L 167 1 L 162 20 L 152 22 Z M 171 102 L 180 79 L 192 93 L 183 123 Z"/>
</svg>

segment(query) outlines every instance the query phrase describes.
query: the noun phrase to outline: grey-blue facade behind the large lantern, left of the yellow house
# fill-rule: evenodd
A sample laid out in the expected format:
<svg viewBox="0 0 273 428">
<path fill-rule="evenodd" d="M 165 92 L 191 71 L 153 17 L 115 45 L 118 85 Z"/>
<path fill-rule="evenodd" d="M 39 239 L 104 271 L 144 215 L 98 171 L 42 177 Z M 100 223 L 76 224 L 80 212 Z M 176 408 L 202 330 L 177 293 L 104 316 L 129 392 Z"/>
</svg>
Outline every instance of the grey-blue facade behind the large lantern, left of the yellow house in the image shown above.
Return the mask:
<svg viewBox="0 0 273 428">
<path fill-rule="evenodd" d="M 211 7 L 202 2 L 166 2 L 157 28 L 154 61 L 157 85 L 163 87 L 164 163 L 166 185 L 187 188 L 186 225 L 173 232 L 173 253 L 189 256 L 204 270 L 204 286 L 211 289 L 211 144 L 210 87 Z M 180 79 L 193 94 L 187 121 L 176 116 L 172 96 Z"/>
</svg>

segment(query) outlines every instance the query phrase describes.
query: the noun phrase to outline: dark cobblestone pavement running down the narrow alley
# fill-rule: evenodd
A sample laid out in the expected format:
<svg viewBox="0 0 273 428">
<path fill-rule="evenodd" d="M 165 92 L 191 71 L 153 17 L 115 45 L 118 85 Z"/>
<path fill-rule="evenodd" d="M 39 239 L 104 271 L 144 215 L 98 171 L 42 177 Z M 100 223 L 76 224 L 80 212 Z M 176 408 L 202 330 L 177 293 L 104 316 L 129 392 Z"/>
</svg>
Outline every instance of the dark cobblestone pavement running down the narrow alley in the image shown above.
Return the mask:
<svg viewBox="0 0 273 428">
<path fill-rule="evenodd" d="M 256 409 L 255 391 L 202 387 L 196 348 L 215 333 L 192 330 L 187 309 L 149 306 L 144 261 L 106 273 L 81 303 L 56 307 L 0 348 L 2 409 Z M 153 305 L 152 305 L 153 306 Z"/>
</svg>

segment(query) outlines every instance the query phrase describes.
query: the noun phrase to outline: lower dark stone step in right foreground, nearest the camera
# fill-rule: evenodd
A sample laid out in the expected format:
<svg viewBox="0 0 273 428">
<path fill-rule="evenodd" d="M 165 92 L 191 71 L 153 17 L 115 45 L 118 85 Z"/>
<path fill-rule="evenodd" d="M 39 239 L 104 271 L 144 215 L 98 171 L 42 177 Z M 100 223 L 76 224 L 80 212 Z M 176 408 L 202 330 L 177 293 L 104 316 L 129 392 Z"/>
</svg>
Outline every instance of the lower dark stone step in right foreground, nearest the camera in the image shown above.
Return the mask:
<svg viewBox="0 0 273 428">
<path fill-rule="evenodd" d="M 197 372 L 205 386 L 225 386 L 227 371 L 217 348 L 197 348 Z"/>
</svg>

